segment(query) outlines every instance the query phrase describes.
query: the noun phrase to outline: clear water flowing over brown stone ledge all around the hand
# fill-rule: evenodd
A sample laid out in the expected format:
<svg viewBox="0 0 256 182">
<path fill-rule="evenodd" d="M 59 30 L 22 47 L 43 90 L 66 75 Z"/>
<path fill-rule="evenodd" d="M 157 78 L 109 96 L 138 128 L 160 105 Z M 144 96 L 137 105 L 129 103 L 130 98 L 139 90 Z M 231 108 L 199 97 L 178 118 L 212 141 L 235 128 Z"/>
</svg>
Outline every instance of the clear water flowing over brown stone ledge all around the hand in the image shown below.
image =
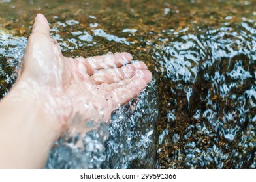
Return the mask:
<svg viewBox="0 0 256 182">
<path fill-rule="evenodd" d="M 0 0 L 1 97 L 37 12 L 63 55 L 127 51 L 154 77 L 110 125 L 65 133 L 46 168 L 256 168 L 256 1 Z"/>
</svg>

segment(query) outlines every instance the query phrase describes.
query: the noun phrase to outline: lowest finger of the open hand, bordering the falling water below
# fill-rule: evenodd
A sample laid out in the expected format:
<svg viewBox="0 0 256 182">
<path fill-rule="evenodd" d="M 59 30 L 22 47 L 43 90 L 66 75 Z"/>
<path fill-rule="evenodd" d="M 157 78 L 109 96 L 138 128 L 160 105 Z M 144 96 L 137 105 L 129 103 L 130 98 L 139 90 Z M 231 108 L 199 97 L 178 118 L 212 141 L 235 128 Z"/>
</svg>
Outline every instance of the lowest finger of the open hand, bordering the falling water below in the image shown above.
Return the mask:
<svg viewBox="0 0 256 182">
<path fill-rule="evenodd" d="M 152 73 L 148 70 L 140 70 L 131 79 L 124 79 L 120 83 L 116 83 L 123 86 L 119 86 L 110 92 L 114 109 L 118 109 L 121 105 L 135 98 L 146 88 L 147 83 L 150 83 L 150 81 L 152 81 Z"/>
</svg>

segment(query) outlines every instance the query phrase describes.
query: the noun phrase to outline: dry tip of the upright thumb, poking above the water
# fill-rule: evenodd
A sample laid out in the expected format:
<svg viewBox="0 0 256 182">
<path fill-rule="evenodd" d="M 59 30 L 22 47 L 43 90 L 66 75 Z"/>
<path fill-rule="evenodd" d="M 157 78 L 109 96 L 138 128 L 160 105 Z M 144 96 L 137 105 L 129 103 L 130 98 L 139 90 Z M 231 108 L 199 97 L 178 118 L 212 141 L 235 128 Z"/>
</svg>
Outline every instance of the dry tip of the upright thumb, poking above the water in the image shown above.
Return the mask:
<svg viewBox="0 0 256 182">
<path fill-rule="evenodd" d="M 32 34 L 44 34 L 46 36 L 50 36 L 50 27 L 48 24 L 47 19 L 42 14 L 37 14 L 37 17 L 35 18 L 35 23 L 32 28 Z"/>
</svg>

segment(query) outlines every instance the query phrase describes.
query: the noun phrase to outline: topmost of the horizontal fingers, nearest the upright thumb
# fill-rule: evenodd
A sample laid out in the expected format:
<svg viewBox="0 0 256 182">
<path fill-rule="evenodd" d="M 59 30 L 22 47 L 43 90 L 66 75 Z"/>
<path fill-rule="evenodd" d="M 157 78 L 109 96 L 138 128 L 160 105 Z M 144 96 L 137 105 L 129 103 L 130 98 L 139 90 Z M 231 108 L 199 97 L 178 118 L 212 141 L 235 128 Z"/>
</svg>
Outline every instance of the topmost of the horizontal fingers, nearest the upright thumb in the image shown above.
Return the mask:
<svg viewBox="0 0 256 182">
<path fill-rule="evenodd" d="M 106 55 L 89 57 L 84 59 L 79 57 L 78 60 L 84 62 L 89 74 L 93 74 L 95 70 L 118 68 L 131 62 L 133 57 L 129 53 L 107 53 Z"/>
</svg>

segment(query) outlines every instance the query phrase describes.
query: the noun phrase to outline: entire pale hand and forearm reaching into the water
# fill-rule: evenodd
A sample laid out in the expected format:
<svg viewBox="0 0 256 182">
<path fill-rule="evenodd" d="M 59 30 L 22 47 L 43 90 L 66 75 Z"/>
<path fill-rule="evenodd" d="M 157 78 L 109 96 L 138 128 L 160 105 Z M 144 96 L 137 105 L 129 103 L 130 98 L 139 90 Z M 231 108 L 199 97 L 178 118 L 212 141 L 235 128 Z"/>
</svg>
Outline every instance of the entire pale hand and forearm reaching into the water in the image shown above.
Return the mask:
<svg viewBox="0 0 256 182">
<path fill-rule="evenodd" d="M 63 57 L 38 14 L 18 79 L 0 102 L 0 168 L 43 168 L 76 116 L 109 122 L 152 81 L 146 64 L 132 59 L 129 53 Z"/>
</svg>

